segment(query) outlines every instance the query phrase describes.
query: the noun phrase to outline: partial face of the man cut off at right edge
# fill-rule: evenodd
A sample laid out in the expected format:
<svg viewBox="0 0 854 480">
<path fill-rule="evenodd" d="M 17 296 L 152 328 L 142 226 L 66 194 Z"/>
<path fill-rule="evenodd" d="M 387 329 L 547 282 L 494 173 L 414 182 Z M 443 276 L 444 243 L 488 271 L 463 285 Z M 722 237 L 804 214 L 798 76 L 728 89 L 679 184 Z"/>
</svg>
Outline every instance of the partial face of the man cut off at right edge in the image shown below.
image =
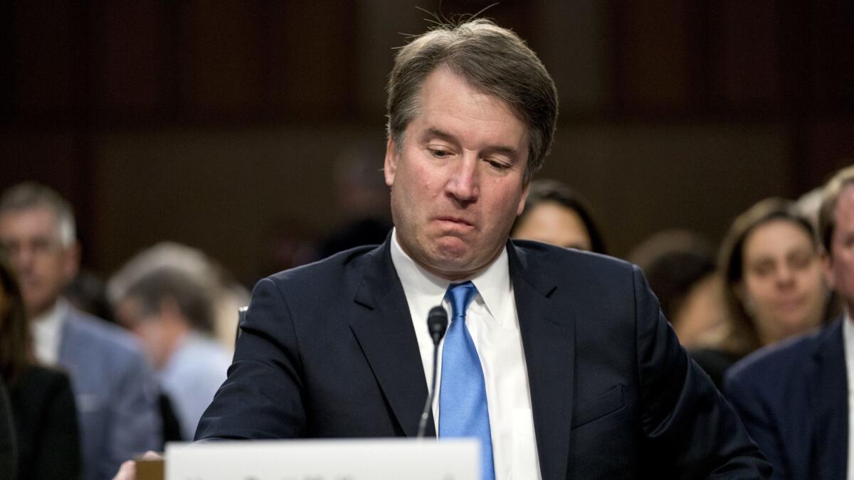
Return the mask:
<svg viewBox="0 0 854 480">
<path fill-rule="evenodd" d="M 842 296 L 848 312 L 854 315 L 854 185 L 840 192 L 834 217 L 836 228 L 825 261 L 825 275 L 831 288 Z"/>
</svg>

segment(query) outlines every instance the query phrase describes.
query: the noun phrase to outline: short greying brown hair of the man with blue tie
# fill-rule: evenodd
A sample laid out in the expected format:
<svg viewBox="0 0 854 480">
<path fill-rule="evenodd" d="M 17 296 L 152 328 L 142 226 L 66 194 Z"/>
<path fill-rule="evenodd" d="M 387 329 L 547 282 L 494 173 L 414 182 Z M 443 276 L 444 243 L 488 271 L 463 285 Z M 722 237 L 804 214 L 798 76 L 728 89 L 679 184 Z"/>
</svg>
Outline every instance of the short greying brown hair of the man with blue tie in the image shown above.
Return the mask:
<svg viewBox="0 0 854 480">
<path fill-rule="evenodd" d="M 389 75 L 387 131 L 401 149 L 403 133 L 418 114 L 424 80 L 447 67 L 473 87 L 507 102 L 528 126 L 526 182 L 552 146 L 558 119 L 558 91 L 552 77 L 522 38 L 492 21 L 442 24 L 401 48 Z"/>
</svg>

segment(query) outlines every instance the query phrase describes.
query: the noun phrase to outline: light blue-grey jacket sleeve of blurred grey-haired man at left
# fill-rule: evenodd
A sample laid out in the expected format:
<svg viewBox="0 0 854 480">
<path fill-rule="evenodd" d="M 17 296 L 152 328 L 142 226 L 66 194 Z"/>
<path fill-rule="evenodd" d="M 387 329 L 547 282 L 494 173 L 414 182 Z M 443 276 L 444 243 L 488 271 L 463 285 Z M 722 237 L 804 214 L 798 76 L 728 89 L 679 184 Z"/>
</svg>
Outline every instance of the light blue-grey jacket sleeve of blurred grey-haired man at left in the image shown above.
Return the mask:
<svg viewBox="0 0 854 480">
<path fill-rule="evenodd" d="M 109 406 L 106 455 L 98 460 L 98 475 L 109 478 L 135 454 L 160 450 L 163 446 L 161 415 L 157 403 L 154 373 L 142 353 L 126 357 Z"/>
</svg>

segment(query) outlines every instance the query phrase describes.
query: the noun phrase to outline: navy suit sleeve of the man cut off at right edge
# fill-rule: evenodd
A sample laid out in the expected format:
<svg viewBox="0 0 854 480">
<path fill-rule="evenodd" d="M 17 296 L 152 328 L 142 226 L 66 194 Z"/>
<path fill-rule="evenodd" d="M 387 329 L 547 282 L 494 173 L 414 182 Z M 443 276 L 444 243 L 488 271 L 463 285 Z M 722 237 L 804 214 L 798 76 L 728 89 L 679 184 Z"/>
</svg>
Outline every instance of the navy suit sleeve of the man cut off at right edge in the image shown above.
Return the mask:
<svg viewBox="0 0 854 480">
<path fill-rule="evenodd" d="M 744 422 L 753 441 L 757 442 L 762 453 L 771 465 L 774 465 L 772 478 L 788 478 L 779 437 L 773 426 L 775 422 L 770 418 L 767 403 L 758 395 L 756 389 L 751 388 L 749 383 L 745 383 L 745 380 L 738 375 L 727 375 L 723 383 L 727 398 Z"/>
</svg>

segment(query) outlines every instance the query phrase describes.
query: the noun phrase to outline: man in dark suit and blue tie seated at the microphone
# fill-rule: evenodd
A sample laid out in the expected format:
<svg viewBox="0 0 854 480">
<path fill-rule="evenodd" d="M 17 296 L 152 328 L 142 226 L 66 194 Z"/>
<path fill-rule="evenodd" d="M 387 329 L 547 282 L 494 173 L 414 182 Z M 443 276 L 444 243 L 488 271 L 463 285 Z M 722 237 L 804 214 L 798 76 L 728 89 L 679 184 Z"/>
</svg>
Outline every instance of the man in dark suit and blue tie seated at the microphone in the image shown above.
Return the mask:
<svg viewBox="0 0 854 480">
<path fill-rule="evenodd" d="M 508 242 L 558 109 L 520 38 L 485 20 L 415 38 L 388 108 L 395 229 L 260 281 L 197 440 L 415 436 L 442 305 L 428 431 L 479 438 L 483 478 L 769 475 L 636 267 Z"/>
</svg>

